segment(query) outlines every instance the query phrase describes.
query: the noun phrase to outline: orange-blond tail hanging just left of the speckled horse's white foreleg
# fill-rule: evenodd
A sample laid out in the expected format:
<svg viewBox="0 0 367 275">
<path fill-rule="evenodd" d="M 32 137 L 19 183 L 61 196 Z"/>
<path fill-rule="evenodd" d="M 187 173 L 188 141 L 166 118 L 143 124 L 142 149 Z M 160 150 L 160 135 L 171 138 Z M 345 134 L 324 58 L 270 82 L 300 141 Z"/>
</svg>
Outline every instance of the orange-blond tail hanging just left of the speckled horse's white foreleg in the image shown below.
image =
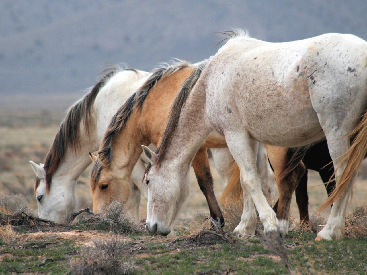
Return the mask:
<svg viewBox="0 0 367 275">
<path fill-rule="evenodd" d="M 231 173 L 231 176 L 229 178 L 226 188 L 224 188 L 221 196 L 221 201 L 238 201 L 239 199 L 241 199 L 243 192 L 240 181 L 240 168 L 235 161 L 233 161 L 233 164 L 228 173 Z"/>
</svg>

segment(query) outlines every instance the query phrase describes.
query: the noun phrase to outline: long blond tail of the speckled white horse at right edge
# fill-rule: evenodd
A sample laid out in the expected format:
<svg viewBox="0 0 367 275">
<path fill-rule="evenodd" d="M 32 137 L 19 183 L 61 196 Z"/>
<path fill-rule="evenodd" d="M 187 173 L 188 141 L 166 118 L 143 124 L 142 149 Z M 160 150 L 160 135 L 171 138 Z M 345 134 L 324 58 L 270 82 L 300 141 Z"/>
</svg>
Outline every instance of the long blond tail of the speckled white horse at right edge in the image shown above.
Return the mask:
<svg viewBox="0 0 367 275">
<path fill-rule="evenodd" d="M 322 211 L 331 204 L 333 204 L 346 190 L 349 184 L 354 184 L 352 181 L 355 172 L 358 170 L 364 156 L 367 152 L 367 110 L 363 115 L 362 120 L 353 129 L 351 132 L 346 135 L 346 137 L 354 137 L 352 145 L 349 149 L 342 154 L 339 158 L 342 158 L 339 162 L 338 167 L 335 168 L 335 172 L 339 169 L 340 165 L 348 159 L 347 165 L 344 169 L 343 175 L 341 176 L 340 180 L 337 182 L 337 187 L 335 187 L 334 191 L 331 195 L 327 198 L 327 200 L 320 205 L 317 211 Z M 333 177 L 332 176 L 332 177 Z"/>
</svg>

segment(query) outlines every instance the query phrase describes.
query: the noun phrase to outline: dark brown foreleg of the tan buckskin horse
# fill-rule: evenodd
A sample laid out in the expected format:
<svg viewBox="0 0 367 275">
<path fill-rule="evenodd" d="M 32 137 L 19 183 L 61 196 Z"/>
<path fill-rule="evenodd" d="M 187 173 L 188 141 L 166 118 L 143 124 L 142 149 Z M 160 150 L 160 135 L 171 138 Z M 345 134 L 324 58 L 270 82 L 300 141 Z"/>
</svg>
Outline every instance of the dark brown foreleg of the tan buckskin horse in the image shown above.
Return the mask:
<svg viewBox="0 0 367 275">
<path fill-rule="evenodd" d="M 210 216 L 214 220 L 217 220 L 217 218 L 219 217 L 221 225 L 223 227 L 224 217 L 221 209 L 219 208 L 217 198 L 215 198 L 213 189 L 213 177 L 210 172 L 210 165 L 206 148 L 200 148 L 199 151 L 197 151 L 195 158 L 192 161 L 192 168 L 194 169 L 200 190 L 201 192 L 203 192 L 207 200 Z"/>
</svg>

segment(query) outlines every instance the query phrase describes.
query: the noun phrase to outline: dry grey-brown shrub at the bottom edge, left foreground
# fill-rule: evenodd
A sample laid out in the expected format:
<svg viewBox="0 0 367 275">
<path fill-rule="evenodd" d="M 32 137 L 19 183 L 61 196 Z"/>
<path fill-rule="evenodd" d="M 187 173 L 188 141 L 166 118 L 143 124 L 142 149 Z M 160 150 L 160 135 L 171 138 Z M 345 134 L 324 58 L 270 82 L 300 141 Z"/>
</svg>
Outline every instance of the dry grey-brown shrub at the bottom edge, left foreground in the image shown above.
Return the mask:
<svg viewBox="0 0 367 275">
<path fill-rule="evenodd" d="M 121 248 L 118 236 L 92 239 L 81 247 L 81 257 L 70 262 L 75 275 L 128 275 L 134 273 L 134 262 Z"/>
</svg>

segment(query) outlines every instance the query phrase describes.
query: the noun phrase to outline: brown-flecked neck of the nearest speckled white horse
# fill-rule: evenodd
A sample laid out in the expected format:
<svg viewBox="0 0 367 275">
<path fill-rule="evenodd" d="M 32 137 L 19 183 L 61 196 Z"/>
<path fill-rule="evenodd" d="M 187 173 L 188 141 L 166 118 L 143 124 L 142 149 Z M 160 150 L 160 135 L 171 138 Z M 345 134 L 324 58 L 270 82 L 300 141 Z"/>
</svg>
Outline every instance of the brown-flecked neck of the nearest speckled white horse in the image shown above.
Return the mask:
<svg viewBox="0 0 367 275">
<path fill-rule="evenodd" d="M 197 84 L 184 104 L 164 156 L 166 164 L 174 163 L 181 168 L 190 168 L 197 150 L 213 130 L 206 117 L 206 95 L 204 87 Z"/>
</svg>

